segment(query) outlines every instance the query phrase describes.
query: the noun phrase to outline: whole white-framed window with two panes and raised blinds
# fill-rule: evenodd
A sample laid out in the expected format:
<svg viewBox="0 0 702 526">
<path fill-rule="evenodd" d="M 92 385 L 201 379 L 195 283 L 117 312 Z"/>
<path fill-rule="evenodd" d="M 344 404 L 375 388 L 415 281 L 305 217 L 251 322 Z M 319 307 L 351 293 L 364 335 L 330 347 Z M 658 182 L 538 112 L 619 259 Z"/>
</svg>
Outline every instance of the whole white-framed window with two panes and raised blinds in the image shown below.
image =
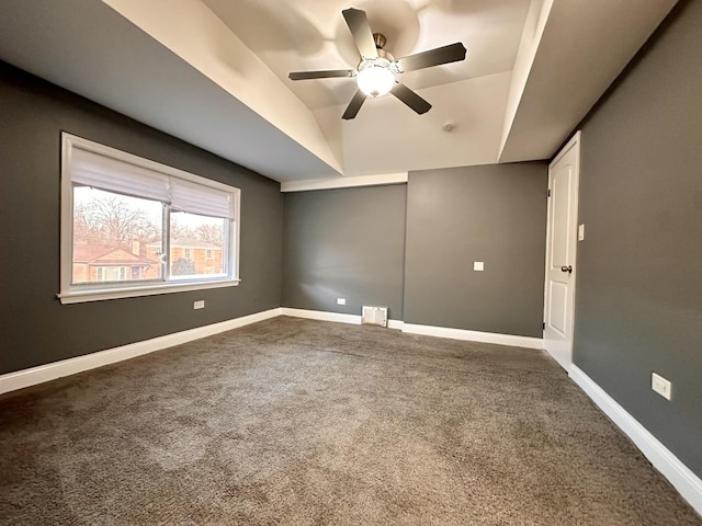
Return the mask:
<svg viewBox="0 0 702 526">
<path fill-rule="evenodd" d="M 61 302 L 237 285 L 239 195 L 63 134 Z"/>
</svg>

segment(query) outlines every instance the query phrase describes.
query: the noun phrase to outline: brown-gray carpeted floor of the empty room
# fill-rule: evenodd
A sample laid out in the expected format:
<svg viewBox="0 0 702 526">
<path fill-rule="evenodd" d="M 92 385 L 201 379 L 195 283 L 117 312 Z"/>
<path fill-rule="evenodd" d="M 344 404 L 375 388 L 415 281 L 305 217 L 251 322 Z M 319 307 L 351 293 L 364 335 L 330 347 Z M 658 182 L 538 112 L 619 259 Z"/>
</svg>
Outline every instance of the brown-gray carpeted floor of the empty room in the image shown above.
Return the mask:
<svg viewBox="0 0 702 526">
<path fill-rule="evenodd" d="M 543 352 L 281 317 L 0 397 L 0 523 L 702 518 Z"/>
</svg>

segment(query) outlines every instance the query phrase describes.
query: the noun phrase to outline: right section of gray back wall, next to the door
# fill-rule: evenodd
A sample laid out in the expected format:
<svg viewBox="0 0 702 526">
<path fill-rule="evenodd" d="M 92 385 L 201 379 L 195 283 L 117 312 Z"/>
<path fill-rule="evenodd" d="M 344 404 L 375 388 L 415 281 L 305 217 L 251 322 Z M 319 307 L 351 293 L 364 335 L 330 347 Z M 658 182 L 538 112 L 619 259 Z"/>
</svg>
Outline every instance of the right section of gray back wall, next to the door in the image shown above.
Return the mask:
<svg viewBox="0 0 702 526">
<path fill-rule="evenodd" d="M 405 322 L 541 338 L 547 180 L 543 162 L 411 172 Z"/>
</svg>

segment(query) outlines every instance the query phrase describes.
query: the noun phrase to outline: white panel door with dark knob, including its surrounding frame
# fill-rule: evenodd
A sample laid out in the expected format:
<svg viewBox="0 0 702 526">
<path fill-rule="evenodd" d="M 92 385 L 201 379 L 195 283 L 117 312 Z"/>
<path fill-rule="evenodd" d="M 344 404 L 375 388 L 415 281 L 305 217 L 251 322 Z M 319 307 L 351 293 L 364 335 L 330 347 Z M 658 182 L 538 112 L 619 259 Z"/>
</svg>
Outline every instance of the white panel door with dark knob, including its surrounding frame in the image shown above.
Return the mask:
<svg viewBox="0 0 702 526">
<path fill-rule="evenodd" d="M 567 371 L 573 359 L 579 169 L 578 132 L 548 167 L 544 348 Z"/>
</svg>

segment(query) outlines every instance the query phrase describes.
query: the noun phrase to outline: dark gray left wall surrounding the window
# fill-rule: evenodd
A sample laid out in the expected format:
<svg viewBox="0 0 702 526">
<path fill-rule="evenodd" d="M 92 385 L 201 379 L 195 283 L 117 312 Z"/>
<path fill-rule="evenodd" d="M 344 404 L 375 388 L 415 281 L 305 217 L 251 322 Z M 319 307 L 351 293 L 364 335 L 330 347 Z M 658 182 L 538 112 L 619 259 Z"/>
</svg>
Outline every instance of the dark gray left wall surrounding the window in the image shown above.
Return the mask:
<svg viewBox="0 0 702 526">
<path fill-rule="evenodd" d="M 3 62 L 0 118 L 0 374 L 280 306 L 278 183 Z M 240 286 L 60 305 L 61 130 L 240 187 Z"/>
</svg>

